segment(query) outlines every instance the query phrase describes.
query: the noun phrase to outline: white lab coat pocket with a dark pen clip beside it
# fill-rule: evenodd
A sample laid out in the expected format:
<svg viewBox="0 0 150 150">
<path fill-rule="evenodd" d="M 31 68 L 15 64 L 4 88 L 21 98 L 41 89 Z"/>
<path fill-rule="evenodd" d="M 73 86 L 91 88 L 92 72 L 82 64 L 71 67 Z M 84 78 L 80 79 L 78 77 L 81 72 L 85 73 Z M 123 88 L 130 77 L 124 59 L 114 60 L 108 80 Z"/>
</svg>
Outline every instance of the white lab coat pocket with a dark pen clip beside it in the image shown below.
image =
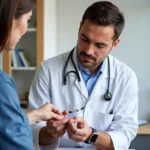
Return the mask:
<svg viewBox="0 0 150 150">
<path fill-rule="evenodd" d="M 107 131 L 113 121 L 114 114 L 106 114 L 99 112 L 98 128 L 100 131 Z"/>
</svg>

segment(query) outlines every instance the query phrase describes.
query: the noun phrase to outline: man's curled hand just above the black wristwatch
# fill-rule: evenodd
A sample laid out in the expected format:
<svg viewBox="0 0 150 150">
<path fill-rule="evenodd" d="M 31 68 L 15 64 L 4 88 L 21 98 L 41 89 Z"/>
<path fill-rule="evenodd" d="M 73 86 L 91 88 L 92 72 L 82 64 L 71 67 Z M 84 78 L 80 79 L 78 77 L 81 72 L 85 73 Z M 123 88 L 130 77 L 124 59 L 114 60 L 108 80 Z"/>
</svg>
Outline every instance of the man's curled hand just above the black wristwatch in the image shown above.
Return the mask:
<svg viewBox="0 0 150 150">
<path fill-rule="evenodd" d="M 83 142 L 92 134 L 92 129 L 83 118 L 74 117 L 67 124 L 67 132 L 73 141 Z"/>
</svg>

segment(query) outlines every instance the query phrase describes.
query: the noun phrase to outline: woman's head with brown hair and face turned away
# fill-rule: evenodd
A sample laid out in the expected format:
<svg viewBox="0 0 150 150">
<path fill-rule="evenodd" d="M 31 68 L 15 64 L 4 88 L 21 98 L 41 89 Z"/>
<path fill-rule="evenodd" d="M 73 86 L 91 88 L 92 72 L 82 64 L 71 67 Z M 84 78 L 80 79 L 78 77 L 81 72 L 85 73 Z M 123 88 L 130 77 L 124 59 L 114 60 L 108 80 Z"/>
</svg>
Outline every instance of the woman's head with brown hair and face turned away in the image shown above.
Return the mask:
<svg viewBox="0 0 150 150">
<path fill-rule="evenodd" d="M 35 0 L 0 0 L 0 51 L 12 50 L 27 31 Z"/>
</svg>

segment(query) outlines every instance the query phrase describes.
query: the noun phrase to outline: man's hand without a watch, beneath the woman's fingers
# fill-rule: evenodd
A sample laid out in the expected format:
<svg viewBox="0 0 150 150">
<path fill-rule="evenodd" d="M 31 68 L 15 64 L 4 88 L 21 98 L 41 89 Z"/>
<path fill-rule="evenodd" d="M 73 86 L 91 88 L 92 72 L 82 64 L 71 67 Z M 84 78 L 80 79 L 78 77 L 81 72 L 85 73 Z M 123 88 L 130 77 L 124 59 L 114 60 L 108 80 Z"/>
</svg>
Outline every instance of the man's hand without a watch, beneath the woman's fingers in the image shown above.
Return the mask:
<svg viewBox="0 0 150 150">
<path fill-rule="evenodd" d="M 67 119 L 68 111 L 62 112 L 64 118 L 62 120 L 50 119 L 47 121 L 47 130 L 55 138 L 63 136 L 66 132 L 66 124 L 68 123 Z"/>
</svg>

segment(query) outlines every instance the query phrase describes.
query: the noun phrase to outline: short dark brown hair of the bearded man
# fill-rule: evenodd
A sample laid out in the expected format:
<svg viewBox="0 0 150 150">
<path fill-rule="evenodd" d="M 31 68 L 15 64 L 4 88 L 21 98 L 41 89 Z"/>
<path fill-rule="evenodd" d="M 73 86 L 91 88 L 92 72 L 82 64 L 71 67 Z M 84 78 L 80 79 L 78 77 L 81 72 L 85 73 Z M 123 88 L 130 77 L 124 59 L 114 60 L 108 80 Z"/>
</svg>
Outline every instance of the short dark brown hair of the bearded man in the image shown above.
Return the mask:
<svg viewBox="0 0 150 150">
<path fill-rule="evenodd" d="M 114 41 L 118 39 L 125 25 L 124 16 L 119 11 L 119 8 L 108 1 L 95 2 L 89 6 L 83 14 L 82 23 L 85 20 L 90 20 L 97 25 L 113 26 L 115 32 Z"/>
</svg>

